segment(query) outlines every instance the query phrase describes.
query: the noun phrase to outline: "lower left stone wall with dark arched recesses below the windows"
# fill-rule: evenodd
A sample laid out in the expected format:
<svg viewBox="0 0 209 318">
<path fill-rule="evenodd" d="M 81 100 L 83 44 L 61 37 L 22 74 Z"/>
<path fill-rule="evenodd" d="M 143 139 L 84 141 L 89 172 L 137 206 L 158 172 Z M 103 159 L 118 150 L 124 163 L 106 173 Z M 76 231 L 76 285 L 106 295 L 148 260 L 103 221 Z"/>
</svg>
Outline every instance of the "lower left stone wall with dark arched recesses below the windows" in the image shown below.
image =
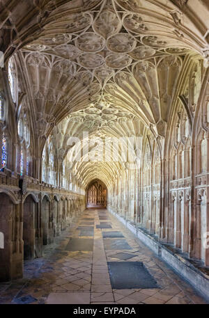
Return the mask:
<svg viewBox="0 0 209 318">
<path fill-rule="evenodd" d="M 4 170 L 0 180 L 10 180 L 9 175 Z M 54 237 L 85 208 L 85 196 L 72 191 L 36 183 L 36 190 L 28 187 L 22 194 L 18 186 L 1 182 L 0 232 L 4 248 L 0 249 L 0 281 L 22 277 L 24 260 L 41 257 L 43 245 L 53 244 Z"/>
</svg>

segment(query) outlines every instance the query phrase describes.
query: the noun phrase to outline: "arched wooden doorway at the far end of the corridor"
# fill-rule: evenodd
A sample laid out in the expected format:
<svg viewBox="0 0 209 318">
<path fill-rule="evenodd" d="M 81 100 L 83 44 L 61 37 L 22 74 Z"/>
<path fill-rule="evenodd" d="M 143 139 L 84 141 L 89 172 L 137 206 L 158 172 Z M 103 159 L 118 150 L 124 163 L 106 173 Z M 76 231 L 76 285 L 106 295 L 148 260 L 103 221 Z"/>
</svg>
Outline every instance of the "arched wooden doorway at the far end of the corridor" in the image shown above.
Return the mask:
<svg viewBox="0 0 209 318">
<path fill-rule="evenodd" d="M 106 207 L 107 186 L 100 180 L 93 180 L 86 191 L 87 207 Z"/>
</svg>

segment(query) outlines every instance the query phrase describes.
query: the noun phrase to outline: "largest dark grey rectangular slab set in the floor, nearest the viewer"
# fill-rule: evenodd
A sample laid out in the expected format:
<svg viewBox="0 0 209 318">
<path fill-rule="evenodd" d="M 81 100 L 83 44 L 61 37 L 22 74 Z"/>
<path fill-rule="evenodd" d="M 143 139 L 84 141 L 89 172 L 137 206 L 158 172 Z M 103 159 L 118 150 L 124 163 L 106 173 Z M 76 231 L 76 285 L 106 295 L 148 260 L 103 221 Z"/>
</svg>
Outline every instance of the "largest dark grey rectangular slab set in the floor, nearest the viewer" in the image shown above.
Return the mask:
<svg viewBox="0 0 209 318">
<path fill-rule="evenodd" d="M 108 262 L 114 289 L 159 288 L 143 262 Z"/>
</svg>

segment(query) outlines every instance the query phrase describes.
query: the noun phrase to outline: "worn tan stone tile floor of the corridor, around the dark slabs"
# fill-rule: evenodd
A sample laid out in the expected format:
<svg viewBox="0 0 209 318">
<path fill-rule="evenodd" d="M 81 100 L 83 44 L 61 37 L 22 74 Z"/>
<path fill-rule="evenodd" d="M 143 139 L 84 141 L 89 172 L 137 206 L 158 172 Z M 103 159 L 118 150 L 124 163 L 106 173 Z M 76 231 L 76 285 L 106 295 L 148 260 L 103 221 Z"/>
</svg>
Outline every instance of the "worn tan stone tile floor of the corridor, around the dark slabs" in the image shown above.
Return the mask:
<svg viewBox="0 0 209 318">
<path fill-rule="evenodd" d="M 194 289 L 170 269 L 159 257 L 139 241 L 109 212 L 111 231 L 123 233 L 129 251 L 104 249 L 100 229 L 99 209 L 86 209 L 77 223 L 45 246 L 44 256 L 24 263 L 24 278 L 10 283 L 0 283 L 0 303 L 114 303 L 114 304 L 189 304 L 206 303 Z M 102 209 L 104 211 L 104 209 Z M 79 226 L 93 221 L 94 236 L 82 237 Z M 87 224 L 86 224 L 87 226 Z M 89 226 L 89 224 L 88 224 Z M 85 231 L 84 231 L 85 233 Z M 66 246 L 74 239 L 93 239 L 93 251 L 68 251 Z M 109 238 L 108 238 L 109 239 Z M 120 244 L 119 244 L 120 246 Z M 118 246 L 118 247 L 119 247 Z M 143 262 L 157 281 L 152 289 L 112 289 L 107 262 L 126 262 L 115 257 L 118 253 L 131 253 L 128 262 Z"/>
</svg>

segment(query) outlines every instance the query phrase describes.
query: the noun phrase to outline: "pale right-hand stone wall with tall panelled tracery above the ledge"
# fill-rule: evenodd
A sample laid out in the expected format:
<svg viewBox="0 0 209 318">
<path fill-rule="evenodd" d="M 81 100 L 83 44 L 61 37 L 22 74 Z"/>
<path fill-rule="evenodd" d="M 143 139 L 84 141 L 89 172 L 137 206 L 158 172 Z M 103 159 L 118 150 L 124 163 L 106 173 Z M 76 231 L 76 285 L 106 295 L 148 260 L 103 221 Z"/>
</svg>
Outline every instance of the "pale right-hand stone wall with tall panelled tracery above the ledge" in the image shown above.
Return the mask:
<svg viewBox="0 0 209 318">
<path fill-rule="evenodd" d="M 208 267 L 208 70 L 200 73 L 198 62 L 190 65 L 167 138 L 144 132 L 140 165 L 116 175 L 108 207 Z"/>
</svg>

